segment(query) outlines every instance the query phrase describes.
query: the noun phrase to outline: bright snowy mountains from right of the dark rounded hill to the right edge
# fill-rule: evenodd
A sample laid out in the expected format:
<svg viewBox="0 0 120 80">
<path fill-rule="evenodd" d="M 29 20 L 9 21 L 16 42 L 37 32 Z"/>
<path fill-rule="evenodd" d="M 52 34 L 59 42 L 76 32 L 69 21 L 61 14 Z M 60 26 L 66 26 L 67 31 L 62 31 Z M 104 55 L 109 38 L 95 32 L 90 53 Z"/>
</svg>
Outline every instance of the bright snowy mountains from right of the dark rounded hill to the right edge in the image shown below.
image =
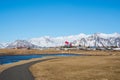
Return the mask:
<svg viewBox="0 0 120 80">
<path fill-rule="evenodd" d="M 72 36 L 63 37 L 40 37 L 32 38 L 29 40 L 30 43 L 41 47 L 56 47 L 63 46 L 65 41 L 73 43 L 75 46 L 117 46 L 120 47 L 120 34 L 104 34 L 95 33 L 91 35 L 79 34 Z"/>
</svg>

